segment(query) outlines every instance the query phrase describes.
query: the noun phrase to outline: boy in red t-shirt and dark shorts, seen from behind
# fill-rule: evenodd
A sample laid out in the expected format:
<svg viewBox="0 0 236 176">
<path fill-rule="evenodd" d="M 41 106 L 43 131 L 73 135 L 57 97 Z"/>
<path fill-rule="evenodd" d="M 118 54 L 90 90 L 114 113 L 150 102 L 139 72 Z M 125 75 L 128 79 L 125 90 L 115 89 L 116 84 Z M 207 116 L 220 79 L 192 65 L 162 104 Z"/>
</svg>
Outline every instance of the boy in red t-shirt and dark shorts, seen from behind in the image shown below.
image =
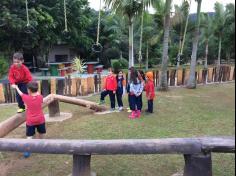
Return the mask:
<svg viewBox="0 0 236 176">
<path fill-rule="evenodd" d="M 39 139 L 43 139 L 44 134 L 46 134 L 45 118 L 43 114 L 43 96 L 38 93 L 38 83 L 30 82 L 27 84 L 28 93 L 24 94 L 18 88 L 17 85 L 13 85 L 22 97 L 23 102 L 27 106 L 26 109 L 26 136 L 27 139 L 32 139 L 35 135 L 35 130 L 37 129 Z M 30 153 L 25 152 L 24 156 L 27 158 Z"/>
</svg>

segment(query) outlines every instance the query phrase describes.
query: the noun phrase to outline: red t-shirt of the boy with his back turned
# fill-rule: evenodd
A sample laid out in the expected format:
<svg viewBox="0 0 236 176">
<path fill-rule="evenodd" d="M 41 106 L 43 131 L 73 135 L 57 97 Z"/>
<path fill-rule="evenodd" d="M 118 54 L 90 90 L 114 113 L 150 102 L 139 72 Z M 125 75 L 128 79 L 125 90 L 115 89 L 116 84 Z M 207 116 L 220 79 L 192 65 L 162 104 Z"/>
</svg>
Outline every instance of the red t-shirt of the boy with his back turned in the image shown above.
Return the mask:
<svg viewBox="0 0 236 176">
<path fill-rule="evenodd" d="M 43 96 L 30 96 L 23 94 L 22 100 L 26 105 L 26 124 L 29 126 L 41 125 L 45 123 L 45 117 L 43 114 Z"/>
</svg>

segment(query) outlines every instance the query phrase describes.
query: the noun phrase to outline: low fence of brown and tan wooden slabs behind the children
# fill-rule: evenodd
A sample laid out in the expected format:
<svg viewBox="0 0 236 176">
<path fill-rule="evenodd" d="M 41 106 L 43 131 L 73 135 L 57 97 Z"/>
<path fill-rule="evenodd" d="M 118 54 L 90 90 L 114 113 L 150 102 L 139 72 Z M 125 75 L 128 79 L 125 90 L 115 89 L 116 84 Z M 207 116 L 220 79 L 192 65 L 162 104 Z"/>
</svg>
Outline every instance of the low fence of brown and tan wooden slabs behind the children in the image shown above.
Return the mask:
<svg viewBox="0 0 236 176">
<path fill-rule="evenodd" d="M 155 86 L 160 85 L 161 71 L 153 71 Z M 189 79 L 189 69 L 168 70 L 169 86 L 185 86 Z M 38 80 L 40 91 L 44 97 L 49 94 L 59 94 L 66 96 L 86 96 L 91 93 L 98 93 L 104 86 L 105 76 L 95 75 L 87 78 L 51 78 Z M 219 80 L 216 80 L 216 67 L 207 70 L 199 69 L 196 72 L 197 84 L 207 84 L 214 82 L 227 82 L 235 80 L 235 67 L 222 65 L 220 68 Z M 15 91 L 11 89 L 10 84 L 0 83 L 0 103 L 14 103 Z"/>
</svg>

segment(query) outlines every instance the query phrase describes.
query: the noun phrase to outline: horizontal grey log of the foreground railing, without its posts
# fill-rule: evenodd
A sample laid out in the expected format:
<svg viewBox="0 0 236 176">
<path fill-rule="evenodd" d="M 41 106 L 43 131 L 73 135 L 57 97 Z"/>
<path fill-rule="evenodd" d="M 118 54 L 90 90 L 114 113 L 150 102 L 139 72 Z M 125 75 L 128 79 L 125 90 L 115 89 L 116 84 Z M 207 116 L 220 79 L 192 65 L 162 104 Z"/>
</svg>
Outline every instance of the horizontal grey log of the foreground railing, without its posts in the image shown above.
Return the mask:
<svg viewBox="0 0 236 176">
<path fill-rule="evenodd" d="M 214 147 L 225 146 L 226 151 L 234 152 L 235 140 L 229 138 L 208 138 L 218 143 L 209 145 L 208 151 Z M 115 155 L 115 154 L 198 154 L 207 143 L 201 138 L 170 139 L 130 139 L 130 140 L 27 140 L 0 139 L 0 151 L 32 152 L 46 154 L 77 155 Z M 229 146 L 228 146 L 229 145 Z"/>
</svg>

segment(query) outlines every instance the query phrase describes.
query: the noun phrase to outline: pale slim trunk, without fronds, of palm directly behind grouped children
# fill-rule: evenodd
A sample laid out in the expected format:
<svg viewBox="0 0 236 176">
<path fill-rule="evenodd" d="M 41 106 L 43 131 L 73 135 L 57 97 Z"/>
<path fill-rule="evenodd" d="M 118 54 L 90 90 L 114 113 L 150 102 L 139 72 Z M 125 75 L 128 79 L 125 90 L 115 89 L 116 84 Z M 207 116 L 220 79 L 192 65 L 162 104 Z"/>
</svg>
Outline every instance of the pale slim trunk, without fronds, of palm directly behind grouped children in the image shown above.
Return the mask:
<svg viewBox="0 0 236 176">
<path fill-rule="evenodd" d="M 134 66 L 134 40 L 133 40 L 133 32 L 134 32 L 134 24 L 133 18 L 129 20 L 129 67 Z"/>
</svg>

